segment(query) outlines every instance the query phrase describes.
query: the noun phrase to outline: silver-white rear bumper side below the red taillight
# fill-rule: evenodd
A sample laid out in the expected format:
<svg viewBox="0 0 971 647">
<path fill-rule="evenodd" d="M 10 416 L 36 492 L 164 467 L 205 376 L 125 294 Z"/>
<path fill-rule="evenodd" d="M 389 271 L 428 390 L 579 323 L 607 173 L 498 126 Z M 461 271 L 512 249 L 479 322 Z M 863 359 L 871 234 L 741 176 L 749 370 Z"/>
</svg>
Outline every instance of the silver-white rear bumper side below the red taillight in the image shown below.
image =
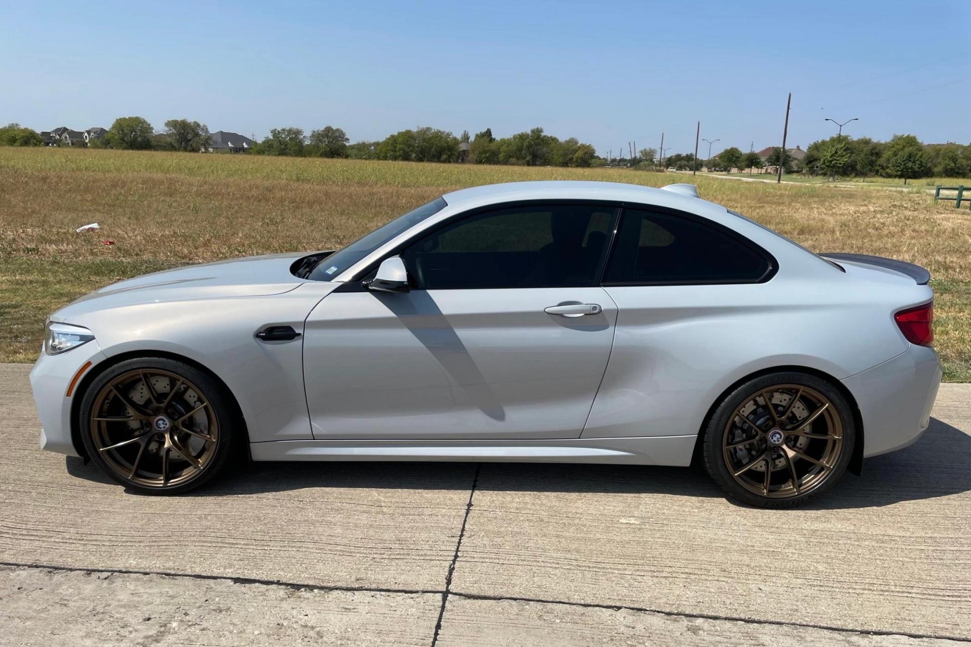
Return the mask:
<svg viewBox="0 0 971 647">
<path fill-rule="evenodd" d="M 933 348 L 911 344 L 893 359 L 841 380 L 863 419 L 864 458 L 903 449 L 921 437 L 942 376 Z"/>
</svg>

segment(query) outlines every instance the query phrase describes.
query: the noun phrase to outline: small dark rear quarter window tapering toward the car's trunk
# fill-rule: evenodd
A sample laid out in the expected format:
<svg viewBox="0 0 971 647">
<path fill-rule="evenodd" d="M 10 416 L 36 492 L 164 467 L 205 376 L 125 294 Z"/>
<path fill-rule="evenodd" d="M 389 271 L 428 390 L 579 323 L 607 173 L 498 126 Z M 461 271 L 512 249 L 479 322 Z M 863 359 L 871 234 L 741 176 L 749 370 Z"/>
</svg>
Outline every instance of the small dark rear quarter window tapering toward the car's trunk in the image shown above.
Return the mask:
<svg viewBox="0 0 971 647">
<path fill-rule="evenodd" d="M 605 283 L 746 283 L 769 272 L 753 247 L 690 218 L 624 210 Z"/>
</svg>

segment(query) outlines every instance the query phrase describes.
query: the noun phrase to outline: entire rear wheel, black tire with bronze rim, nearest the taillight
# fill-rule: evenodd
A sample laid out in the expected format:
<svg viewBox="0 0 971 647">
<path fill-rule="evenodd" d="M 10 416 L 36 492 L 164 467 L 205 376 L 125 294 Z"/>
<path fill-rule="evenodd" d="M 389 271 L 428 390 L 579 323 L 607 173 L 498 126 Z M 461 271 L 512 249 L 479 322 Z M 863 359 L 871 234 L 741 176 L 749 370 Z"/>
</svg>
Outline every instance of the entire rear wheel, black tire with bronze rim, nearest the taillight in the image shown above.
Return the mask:
<svg viewBox="0 0 971 647">
<path fill-rule="evenodd" d="M 811 404 L 820 409 L 814 417 Z M 794 409 L 806 411 L 802 419 Z M 784 413 L 788 415 L 782 420 Z M 807 420 L 812 433 L 800 428 Z M 816 425 L 825 430 L 823 434 L 815 432 Z M 785 432 L 789 429 L 791 435 Z M 856 426 L 850 403 L 833 384 L 804 372 L 775 372 L 749 380 L 725 396 L 703 434 L 705 469 L 722 490 L 750 505 L 781 508 L 811 501 L 839 480 L 854 453 Z M 753 482 L 756 475 L 764 479 L 761 486 Z"/>
</svg>

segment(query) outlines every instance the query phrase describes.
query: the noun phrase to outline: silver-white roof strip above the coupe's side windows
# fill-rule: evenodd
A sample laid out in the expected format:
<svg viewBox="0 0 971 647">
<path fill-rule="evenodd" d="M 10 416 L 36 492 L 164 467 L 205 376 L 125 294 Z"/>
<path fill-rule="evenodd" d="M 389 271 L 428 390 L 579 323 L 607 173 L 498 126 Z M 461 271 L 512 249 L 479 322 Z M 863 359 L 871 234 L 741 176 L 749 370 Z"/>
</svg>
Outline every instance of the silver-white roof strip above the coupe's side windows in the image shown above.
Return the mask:
<svg viewBox="0 0 971 647">
<path fill-rule="evenodd" d="M 684 185 L 678 186 L 684 187 Z M 657 189 L 622 182 L 550 179 L 485 184 L 452 191 L 442 197 L 450 206 L 462 203 L 488 205 L 519 200 L 605 200 L 661 205 L 692 211 L 715 207 L 724 211 L 720 205 L 701 200 L 684 190 L 671 190 L 671 188 Z"/>
</svg>

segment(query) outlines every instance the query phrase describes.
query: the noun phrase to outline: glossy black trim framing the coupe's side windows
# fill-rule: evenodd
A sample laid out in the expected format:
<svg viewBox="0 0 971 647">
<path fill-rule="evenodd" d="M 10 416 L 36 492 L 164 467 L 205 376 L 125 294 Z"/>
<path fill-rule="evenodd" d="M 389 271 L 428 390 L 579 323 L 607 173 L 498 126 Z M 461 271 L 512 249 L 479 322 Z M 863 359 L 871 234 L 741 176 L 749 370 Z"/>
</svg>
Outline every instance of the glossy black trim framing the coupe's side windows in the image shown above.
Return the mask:
<svg viewBox="0 0 971 647">
<path fill-rule="evenodd" d="M 495 211 L 503 209 L 513 209 L 516 207 L 529 207 L 529 206 L 539 206 L 539 205 L 590 205 L 594 207 L 604 207 L 615 210 L 614 219 L 612 222 L 612 231 L 610 241 L 607 246 L 607 255 L 604 258 L 603 264 L 600 267 L 600 276 L 597 280 L 597 285 L 600 287 L 636 287 L 636 286 L 661 286 L 661 285 L 747 285 L 756 283 L 768 282 L 779 272 L 779 263 L 776 261 L 775 256 L 769 253 L 766 249 L 760 245 L 753 243 L 751 240 L 742 236 L 738 232 L 734 231 L 729 227 L 725 227 L 719 222 L 715 222 L 709 218 L 701 215 L 696 215 L 689 211 L 671 209 L 670 207 L 661 207 L 659 205 L 650 205 L 643 203 L 631 203 L 631 202 L 621 202 L 619 200 L 569 200 L 569 199 L 554 199 L 554 200 L 513 200 L 509 202 L 494 203 L 491 205 L 484 205 L 482 207 L 475 207 L 470 210 L 459 211 L 452 216 L 437 222 L 434 225 L 428 227 L 427 229 L 421 231 L 419 234 L 420 238 L 434 234 L 435 232 L 446 228 L 454 224 L 458 220 L 462 220 L 467 217 L 472 217 L 486 211 Z M 704 227 L 710 227 L 725 236 L 728 236 L 736 243 L 740 243 L 745 247 L 748 247 L 756 255 L 760 256 L 768 265 L 768 269 L 765 273 L 759 276 L 757 279 L 705 279 L 705 280 L 667 280 L 667 281 L 604 281 L 604 275 L 607 272 L 607 268 L 610 266 L 611 259 L 614 255 L 614 250 L 617 247 L 618 242 L 618 232 L 620 228 L 620 222 L 623 219 L 625 210 L 647 210 L 654 211 L 658 213 L 663 213 L 665 215 L 673 215 L 675 217 L 686 218 Z M 400 254 L 406 247 L 414 244 L 416 242 L 416 237 L 410 238 L 403 243 L 398 243 L 385 254 L 383 254 L 376 261 L 368 265 L 366 268 L 358 272 L 356 275 L 352 276 L 349 280 L 345 281 L 341 286 L 335 289 L 335 292 L 365 292 L 367 288 L 364 287 L 363 281 L 373 275 L 378 271 L 378 267 L 385 261 L 385 259 L 391 256 L 396 256 Z M 421 288 L 417 286 L 412 286 L 413 289 L 419 290 Z M 495 289 L 495 288 L 452 288 L 452 289 Z M 527 288 L 499 288 L 499 289 L 527 289 Z M 568 289 L 568 288 L 567 288 Z"/>
</svg>

